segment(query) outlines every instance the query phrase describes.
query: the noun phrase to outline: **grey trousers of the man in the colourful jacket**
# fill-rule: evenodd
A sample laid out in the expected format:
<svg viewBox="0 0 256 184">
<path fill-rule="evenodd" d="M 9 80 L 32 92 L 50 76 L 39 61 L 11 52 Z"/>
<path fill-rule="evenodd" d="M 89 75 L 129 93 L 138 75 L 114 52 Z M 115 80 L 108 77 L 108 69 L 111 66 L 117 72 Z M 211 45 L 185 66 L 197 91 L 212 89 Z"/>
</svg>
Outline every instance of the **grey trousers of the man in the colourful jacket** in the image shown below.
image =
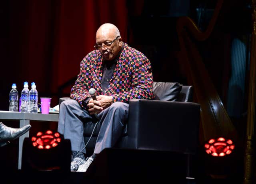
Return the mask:
<svg viewBox="0 0 256 184">
<path fill-rule="evenodd" d="M 101 127 L 94 153 L 98 154 L 104 148 L 111 148 L 116 144 L 128 120 L 128 109 L 129 104 L 114 102 L 98 114 Z M 58 132 L 64 135 L 64 139 L 70 140 L 72 151 L 84 148 L 84 123 L 92 122 L 93 118 L 76 100 L 65 100 L 60 104 Z M 85 150 L 83 152 L 86 153 Z"/>
</svg>

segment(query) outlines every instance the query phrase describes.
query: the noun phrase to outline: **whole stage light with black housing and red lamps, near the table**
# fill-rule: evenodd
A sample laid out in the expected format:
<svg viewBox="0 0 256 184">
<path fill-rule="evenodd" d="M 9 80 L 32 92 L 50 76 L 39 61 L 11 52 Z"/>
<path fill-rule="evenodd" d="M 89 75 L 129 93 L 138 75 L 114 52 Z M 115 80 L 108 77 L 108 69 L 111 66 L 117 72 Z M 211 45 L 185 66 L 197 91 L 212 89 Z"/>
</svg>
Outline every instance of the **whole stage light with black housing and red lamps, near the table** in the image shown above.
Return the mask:
<svg viewBox="0 0 256 184">
<path fill-rule="evenodd" d="M 70 140 L 64 139 L 62 134 L 51 130 L 38 132 L 36 136 L 24 139 L 22 170 L 70 172 L 70 152 Z"/>
</svg>

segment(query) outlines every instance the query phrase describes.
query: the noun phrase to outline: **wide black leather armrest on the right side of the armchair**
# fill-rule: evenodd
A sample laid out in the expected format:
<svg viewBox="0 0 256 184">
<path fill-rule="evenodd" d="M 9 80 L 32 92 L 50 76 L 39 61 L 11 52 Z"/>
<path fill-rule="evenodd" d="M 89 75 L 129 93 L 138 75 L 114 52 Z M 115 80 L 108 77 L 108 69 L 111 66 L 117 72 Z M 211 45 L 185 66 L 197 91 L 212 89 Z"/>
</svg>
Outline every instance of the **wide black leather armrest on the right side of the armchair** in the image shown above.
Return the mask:
<svg viewBox="0 0 256 184">
<path fill-rule="evenodd" d="M 129 104 L 128 148 L 196 154 L 199 104 L 144 99 Z"/>
</svg>

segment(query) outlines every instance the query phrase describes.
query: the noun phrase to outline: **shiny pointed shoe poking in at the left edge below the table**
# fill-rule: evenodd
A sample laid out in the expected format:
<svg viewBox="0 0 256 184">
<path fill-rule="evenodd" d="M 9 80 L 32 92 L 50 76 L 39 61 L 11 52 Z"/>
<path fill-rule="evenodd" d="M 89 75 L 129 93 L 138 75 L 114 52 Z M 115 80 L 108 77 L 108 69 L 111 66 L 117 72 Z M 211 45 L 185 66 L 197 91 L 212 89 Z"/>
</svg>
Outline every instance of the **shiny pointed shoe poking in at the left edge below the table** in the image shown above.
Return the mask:
<svg viewBox="0 0 256 184">
<path fill-rule="evenodd" d="M 31 125 L 28 124 L 22 128 L 11 128 L 0 122 L 0 147 L 9 144 L 11 140 L 14 140 L 30 129 Z"/>
</svg>

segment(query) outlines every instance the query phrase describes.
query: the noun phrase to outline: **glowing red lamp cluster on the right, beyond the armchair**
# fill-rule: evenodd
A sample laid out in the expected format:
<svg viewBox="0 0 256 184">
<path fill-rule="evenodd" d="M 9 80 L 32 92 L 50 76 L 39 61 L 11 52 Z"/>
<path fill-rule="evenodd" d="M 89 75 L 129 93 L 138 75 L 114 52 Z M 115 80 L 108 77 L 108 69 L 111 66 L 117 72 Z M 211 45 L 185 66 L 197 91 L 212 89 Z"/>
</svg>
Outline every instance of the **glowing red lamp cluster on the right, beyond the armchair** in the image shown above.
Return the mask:
<svg viewBox="0 0 256 184">
<path fill-rule="evenodd" d="M 220 137 L 217 139 L 210 139 L 204 144 L 204 148 L 206 149 L 206 153 L 211 154 L 212 156 L 225 156 L 234 150 L 235 145 L 232 140 L 226 140 L 225 138 Z"/>
</svg>

